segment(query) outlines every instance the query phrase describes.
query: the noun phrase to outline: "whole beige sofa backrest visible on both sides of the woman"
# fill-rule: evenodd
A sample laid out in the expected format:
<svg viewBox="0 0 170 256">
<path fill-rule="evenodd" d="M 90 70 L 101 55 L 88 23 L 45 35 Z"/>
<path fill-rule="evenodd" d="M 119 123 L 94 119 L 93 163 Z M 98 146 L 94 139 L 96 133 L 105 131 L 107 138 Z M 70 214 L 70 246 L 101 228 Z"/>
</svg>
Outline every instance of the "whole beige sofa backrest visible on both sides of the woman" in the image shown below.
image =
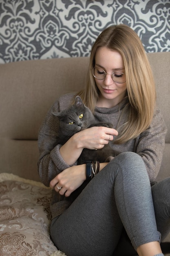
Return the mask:
<svg viewBox="0 0 170 256">
<path fill-rule="evenodd" d="M 150 53 L 157 105 L 170 127 L 170 52 Z M 55 99 L 84 87 L 88 57 L 55 58 L 0 64 L 0 172 L 39 180 L 38 130 Z M 163 175 L 169 174 L 170 129 Z"/>
</svg>

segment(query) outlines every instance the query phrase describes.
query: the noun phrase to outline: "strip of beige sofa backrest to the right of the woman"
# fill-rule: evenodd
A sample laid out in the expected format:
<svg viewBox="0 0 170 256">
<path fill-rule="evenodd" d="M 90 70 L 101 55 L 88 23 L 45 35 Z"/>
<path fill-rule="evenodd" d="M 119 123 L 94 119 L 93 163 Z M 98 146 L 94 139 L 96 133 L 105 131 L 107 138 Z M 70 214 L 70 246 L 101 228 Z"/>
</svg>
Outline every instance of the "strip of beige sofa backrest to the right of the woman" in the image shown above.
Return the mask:
<svg viewBox="0 0 170 256">
<path fill-rule="evenodd" d="M 170 52 L 149 53 L 157 90 L 157 107 L 161 109 L 168 127 L 161 169 L 157 180 L 170 176 Z"/>
</svg>

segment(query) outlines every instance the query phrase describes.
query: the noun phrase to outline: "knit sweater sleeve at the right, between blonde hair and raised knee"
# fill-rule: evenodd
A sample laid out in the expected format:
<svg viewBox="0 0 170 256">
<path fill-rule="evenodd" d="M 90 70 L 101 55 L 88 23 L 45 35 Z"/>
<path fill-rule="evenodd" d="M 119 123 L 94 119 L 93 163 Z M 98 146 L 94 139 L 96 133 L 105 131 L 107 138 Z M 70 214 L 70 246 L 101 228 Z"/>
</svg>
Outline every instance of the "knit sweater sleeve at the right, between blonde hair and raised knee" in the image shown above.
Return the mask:
<svg viewBox="0 0 170 256">
<path fill-rule="evenodd" d="M 167 127 L 161 112 L 156 110 L 152 124 L 139 136 L 136 153 L 141 155 L 145 162 L 150 182 L 155 180 L 161 166 L 166 132 Z"/>
</svg>

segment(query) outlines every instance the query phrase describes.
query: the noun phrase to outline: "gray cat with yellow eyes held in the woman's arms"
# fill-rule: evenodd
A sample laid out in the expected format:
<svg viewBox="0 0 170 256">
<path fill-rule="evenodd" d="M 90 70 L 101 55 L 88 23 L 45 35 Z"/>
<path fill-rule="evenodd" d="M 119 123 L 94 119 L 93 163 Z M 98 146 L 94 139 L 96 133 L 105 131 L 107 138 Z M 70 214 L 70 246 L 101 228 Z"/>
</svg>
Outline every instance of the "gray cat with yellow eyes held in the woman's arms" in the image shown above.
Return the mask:
<svg viewBox="0 0 170 256">
<path fill-rule="evenodd" d="M 59 143 L 64 144 L 76 132 L 90 128 L 92 126 L 106 126 L 112 128 L 112 124 L 99 122 L 87 108 L 79 96 L 75 97 L 73 106 L 62 110 L 61 112 L 53 112 L 60 120 Z M 112 157 L 111 157 L 112 156 Z M 98 150 L 84 148 L 78 159 L 78 164 L 84 164 L 86 161 L 107 162 L 113 158 L 113 150 L 109 144 Z M 107 161 L 106 161 L 107 160 Z"/>
</svg>

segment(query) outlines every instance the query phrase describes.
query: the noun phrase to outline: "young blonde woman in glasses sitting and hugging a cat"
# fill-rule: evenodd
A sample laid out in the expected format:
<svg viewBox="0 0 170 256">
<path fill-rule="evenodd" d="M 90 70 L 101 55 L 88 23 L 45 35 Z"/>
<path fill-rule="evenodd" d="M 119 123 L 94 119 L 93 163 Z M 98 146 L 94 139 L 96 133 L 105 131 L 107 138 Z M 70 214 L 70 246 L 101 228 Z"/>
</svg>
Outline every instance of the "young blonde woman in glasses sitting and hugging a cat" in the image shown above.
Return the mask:
<svg viewBox="0 0 170 256">
<path fill-rule="evenodd" d="M 53 242 L 67 256 L 111 256 L 125 229 L 136 254 L 163 255 L 161 236 L 170 231 L 170 179 L 150 183 L 161 165 L 166 125 L 155 108 L 144 47 L 130 27 L 108 27 L 99 35 L 86 88 L 77 95 L 114 129 L 91 127 L 60 145 L 52 112 L 73 104 L 75 95 L 60 97 L 49 110 L 39 132 L 38 170 L 42 182 L 54 188 Z M 97 175 L 89 178 L 87 168 L 93 163 L 77 165 L 77 159 L 84 148 L 98 150 L 109 141 L 115 158 L 100 163 Z M 86 179 L 90 181 L 82 190 Z"/>
</svg>

